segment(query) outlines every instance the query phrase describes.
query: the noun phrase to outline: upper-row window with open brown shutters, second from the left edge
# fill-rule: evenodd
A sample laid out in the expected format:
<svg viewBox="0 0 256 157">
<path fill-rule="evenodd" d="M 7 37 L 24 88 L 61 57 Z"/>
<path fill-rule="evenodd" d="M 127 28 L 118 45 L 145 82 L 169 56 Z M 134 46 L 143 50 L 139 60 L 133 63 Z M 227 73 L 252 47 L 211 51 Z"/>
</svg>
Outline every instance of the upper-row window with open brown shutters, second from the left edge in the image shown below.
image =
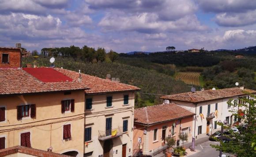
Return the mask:
<svg viewBox="0 0 256 157">
<path fill-rule="evenodd" d="M 36 117 L 36 106 L 35 104 L 31 105 L 22 105 L 17 106 L 17 119 L 22 119 L 23 117 Z"/>
</svg>

